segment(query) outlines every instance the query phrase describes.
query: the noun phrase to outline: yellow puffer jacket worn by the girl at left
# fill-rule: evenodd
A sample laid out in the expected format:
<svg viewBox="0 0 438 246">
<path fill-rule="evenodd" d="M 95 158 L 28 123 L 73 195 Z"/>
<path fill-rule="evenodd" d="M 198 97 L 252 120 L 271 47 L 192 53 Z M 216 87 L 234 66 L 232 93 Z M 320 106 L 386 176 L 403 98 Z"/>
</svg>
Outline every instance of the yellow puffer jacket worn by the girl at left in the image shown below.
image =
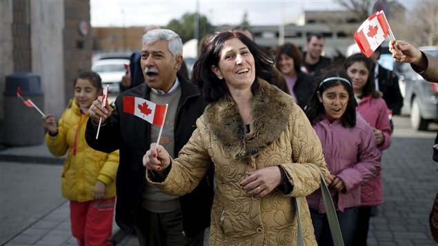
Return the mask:
<svg viewBox="0 0 438 246">
<path fill-rule="evenodd" d="M 116 195 L 116 173 L 119 150 L 110 154 L 93 150 L 85 140 L 88 112 L 81 113 L 76 100 L 63 112 L 58 123 L 58 134 L 46 134 L 47 147 L 54 156 L 68 150 L 61 172 L 62 195 L 72 201 L 92 201 L 94 185 L 99 180 L 106 184 L 103 198 Z M 76 139 L 76 141 L 75 141 Z"/>
</svg>

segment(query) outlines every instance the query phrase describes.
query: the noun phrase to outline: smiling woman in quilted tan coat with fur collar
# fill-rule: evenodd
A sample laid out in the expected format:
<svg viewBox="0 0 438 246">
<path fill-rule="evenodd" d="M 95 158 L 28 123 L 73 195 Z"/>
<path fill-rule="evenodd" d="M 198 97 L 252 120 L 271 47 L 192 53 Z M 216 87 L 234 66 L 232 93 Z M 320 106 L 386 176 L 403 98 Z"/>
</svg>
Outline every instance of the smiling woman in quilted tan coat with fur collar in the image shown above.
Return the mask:
<svg viewBox="0 0 438 246">
<path fill-rule="evenodd" d="M 210 105 L 171 159 L 152 143 L 146 177 L 164 192 L 191 192 L 215 168 L 210 245 L 296 245 L 297 211 L 305 245 L 316 245 L 305 196 L 328 175 L 321 143 L 291 96 L 270 85 L 272 57 L 238 32 L 219 32 L 195 63 Z M 196 219 L 196 218 L 193 218 Z"/>
</svg>

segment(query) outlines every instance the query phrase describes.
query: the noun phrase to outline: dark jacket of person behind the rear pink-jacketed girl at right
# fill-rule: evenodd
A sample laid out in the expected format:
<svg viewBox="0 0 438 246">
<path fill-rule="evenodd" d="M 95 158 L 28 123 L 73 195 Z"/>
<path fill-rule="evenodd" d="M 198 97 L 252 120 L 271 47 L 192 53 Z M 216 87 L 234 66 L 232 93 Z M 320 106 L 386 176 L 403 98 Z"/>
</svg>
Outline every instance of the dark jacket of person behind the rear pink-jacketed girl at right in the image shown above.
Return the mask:
<svg viewBox="0 0 438 246">
<path fill-rule="evenodd" d="M 373 67 L 372 71 L 374 70 L 375 68 Z M 403 96 L 401 96 L 399 88 L 399 77 L 391 70 L 387 70 L 379 65 L 377 81 L 379 81 L 379 91 L 384 94 L 383 99 L 386 101 L 388 109 L 392 110 L 392 114 L 399 115 L 401 107 L 403 107 Z"/>
</svg>

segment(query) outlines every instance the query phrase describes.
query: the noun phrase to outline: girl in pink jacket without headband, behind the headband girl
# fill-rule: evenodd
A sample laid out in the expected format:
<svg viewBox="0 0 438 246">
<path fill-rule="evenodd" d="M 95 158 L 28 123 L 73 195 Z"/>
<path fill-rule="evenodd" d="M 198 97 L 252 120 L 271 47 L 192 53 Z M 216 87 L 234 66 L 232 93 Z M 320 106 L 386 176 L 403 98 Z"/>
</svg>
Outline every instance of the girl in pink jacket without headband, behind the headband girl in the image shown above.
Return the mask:
<svg viewBox="0 0 438 246">
<path fill-rule="evenodd" d="M 379 150 L 386 150 L 391 145 L 391 127 L 388 107 L 381 93 L 375 90 L 372 61 L 364 54 L 352 54 L 344 63 L 344 68 L 352 81 L 357 101 L 357 112 L 364 117 L 375 134 Z M 371 207 L 384 203 L 381 172 L 370 182 L 361 185 L 361 206 L 357 214 L 357 229 L 354 245 L 366 246 Z"/>
</svg>

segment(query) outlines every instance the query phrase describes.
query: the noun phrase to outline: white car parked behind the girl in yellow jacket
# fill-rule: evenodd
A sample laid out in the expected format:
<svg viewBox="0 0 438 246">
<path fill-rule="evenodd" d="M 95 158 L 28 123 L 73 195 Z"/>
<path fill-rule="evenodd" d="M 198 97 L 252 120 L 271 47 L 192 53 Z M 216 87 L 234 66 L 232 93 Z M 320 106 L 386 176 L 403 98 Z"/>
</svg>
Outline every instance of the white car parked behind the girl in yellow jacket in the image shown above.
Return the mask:
<svg viewBox="0 0 438 246">
<path fill-rule="evenodd" d="M 102 59 L 94 61 L 91 70 L 101 76 L 103 87 L 110 85 L 110 94 L 118 94 L 121 77 L 126 74 L 124 64 L 129 63 L 129 59 Z"/>
</svg>

